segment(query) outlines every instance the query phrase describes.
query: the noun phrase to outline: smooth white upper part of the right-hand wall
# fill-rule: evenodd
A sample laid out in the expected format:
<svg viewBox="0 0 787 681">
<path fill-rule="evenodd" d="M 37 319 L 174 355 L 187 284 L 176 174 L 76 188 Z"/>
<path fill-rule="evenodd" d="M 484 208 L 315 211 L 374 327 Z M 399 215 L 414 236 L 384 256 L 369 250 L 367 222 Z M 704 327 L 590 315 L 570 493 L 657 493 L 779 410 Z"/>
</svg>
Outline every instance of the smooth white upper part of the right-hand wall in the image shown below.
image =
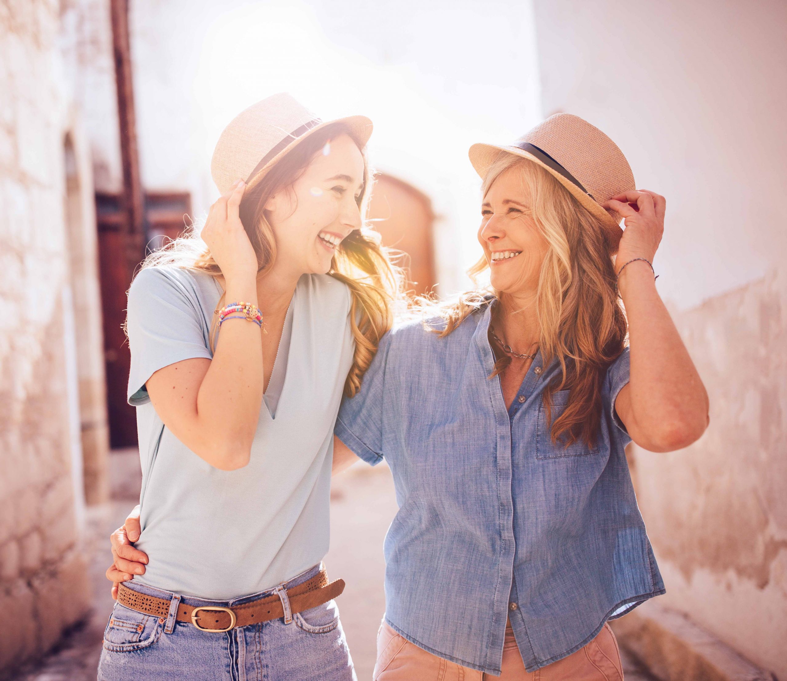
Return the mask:
<svg viewBox="0 0 787 681">
<path fill-rule="evenodd" d="M 595 123 L 667 197 L 658 285 L 678 307 L 787 245 L 787 2 L 536 0 L 544 113 Z"/>
</svg>

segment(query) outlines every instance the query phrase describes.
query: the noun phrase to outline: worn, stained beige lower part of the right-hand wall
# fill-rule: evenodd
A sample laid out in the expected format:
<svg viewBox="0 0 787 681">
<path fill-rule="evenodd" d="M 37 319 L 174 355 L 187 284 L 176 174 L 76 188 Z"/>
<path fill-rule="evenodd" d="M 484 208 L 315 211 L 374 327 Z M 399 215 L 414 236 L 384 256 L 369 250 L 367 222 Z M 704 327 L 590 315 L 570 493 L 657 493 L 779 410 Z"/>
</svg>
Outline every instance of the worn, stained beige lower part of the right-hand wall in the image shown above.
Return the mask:
<svg viewBox="0 0 787 681">
<path fill-rule="evenodd" d="M 673 314 L 711 425 L 682 451 L 634 448 L 660 600 L 787 678 L 787 272 Z"/>
</svg>

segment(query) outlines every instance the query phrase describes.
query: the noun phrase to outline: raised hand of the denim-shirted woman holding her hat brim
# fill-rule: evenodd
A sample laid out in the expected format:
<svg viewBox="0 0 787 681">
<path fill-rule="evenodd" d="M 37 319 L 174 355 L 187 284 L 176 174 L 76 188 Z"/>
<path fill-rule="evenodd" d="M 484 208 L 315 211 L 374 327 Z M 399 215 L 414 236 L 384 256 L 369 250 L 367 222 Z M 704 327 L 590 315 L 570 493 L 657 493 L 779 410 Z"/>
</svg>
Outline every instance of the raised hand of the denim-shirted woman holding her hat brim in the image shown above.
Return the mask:
<svg viewBox="0 0 787 681">
<path fill-rule="evenodd" d="M 645 258 L 653 263 L 664 233 L 667 200 L 655 192 L 637 190 L 618 194 L 601 205 L 623 215 L 626 225 L 620 238 L 615 271 L 619 272 L 634 258 Z"/>
</svg>

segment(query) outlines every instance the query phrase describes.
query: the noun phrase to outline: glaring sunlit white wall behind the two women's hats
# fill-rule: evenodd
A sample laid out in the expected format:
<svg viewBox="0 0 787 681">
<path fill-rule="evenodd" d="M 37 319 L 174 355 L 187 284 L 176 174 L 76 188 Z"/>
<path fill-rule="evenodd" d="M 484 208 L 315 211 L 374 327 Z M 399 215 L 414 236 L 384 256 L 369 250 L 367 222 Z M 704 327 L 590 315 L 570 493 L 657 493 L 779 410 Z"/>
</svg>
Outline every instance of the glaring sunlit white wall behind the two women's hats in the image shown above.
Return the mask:
<svg viewBox="0 0 787 681">
<path fill-rule="evenodd" d="M 99 45 L 109 24 L 97 2 L 80 0 L 75 11 Z M 515 138 L 538 120 L 530 12 L 513 0 L 342 0 L 341 9 L 329 0 L 131 0 L 143 185 L 190 190 L 194 212 L 205 212 L 216 198 L 209 160 L 220 131 L 275 92 L 325 120 L 363 113 L 375 121 L 373 163 L 434 203 L 443 292 L 464 287 L 478 256 L 479 182 L 467 148 Z M 96 112 L 89 127 L 106 164 L 97 182 L 119 187 L 113 83 L 105 57 L 94 63 L 77 90 Z M 83 59 L 83 68 L 93 67 Z"/>
</svg>

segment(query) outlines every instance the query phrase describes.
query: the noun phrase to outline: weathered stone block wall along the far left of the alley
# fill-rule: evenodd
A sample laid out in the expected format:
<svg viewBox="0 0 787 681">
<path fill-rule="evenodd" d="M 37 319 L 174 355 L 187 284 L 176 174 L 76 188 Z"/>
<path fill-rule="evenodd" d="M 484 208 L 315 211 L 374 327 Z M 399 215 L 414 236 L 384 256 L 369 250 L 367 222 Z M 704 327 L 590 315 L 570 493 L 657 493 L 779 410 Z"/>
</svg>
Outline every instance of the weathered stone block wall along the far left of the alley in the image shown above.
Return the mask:
<svg viewBox="0 0 787 681">
<path fill-rule="evenodd" d="M 0 673 L 87 605 L 58 26 L 54 0 L 0 3 Z"/>
</svg>

